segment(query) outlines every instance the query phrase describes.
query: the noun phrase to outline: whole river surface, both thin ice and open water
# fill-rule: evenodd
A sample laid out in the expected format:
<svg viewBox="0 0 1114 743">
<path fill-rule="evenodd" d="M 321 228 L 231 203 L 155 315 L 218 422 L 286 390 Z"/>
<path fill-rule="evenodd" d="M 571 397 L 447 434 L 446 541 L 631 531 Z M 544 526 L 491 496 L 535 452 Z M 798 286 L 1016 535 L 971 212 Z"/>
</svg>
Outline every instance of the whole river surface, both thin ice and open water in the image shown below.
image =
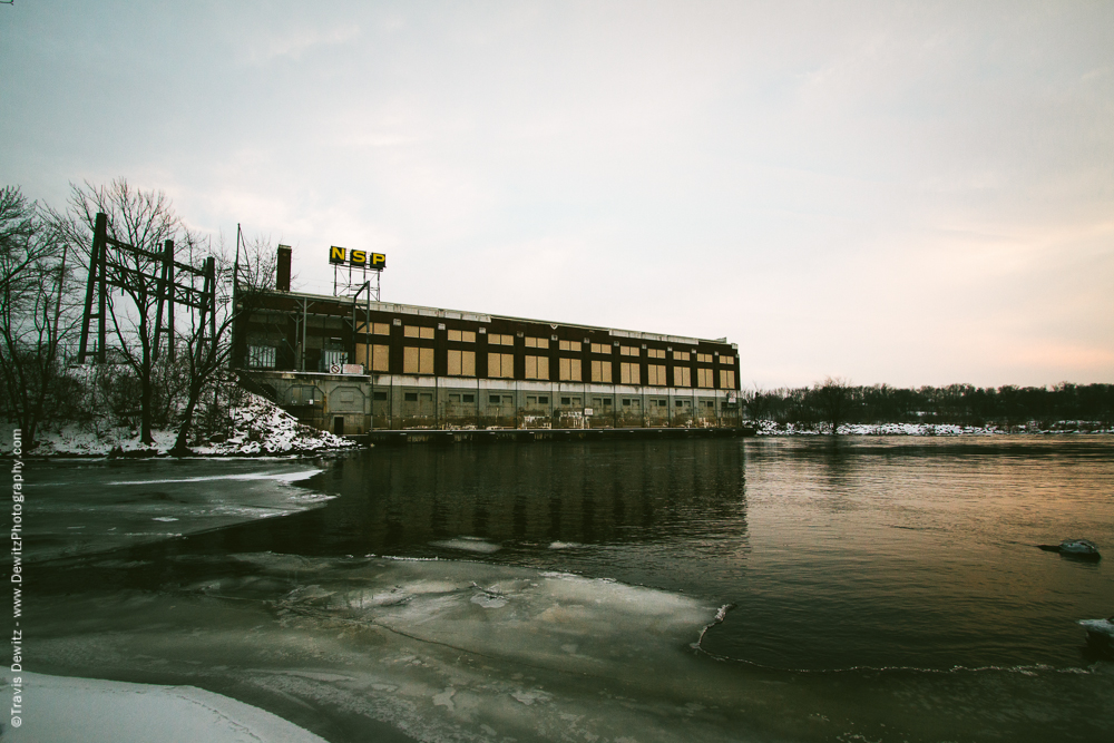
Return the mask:
<svg viewBox="0 0 1114 743">
<path fill-rule="evenodd" d="M 1114 740 L 1114 664 L 1076 625 L 1114 614 L 1112 437 L 413 446 L 36 477 L 32 671 L 190 683 L 338 742 Z M 65 506 L 82 489 L 98 505 Z M 125 516 L 157 528 L 121 542 Z M 66 530 L 81 541 L 60 551 Z M 1036 548 L 1075 537 L 1112 557 Z"/>
</svg>

